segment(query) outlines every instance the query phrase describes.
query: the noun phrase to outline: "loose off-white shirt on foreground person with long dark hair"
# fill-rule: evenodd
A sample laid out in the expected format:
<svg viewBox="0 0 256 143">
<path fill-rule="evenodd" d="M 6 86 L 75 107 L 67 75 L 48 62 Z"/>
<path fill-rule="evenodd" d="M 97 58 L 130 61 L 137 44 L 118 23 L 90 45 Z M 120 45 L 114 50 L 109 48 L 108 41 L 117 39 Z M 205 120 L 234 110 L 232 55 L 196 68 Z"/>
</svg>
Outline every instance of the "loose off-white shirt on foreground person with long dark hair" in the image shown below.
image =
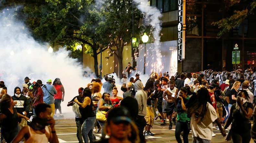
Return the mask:
<svg viewBox="0 0 256 143">
<path fill-rule="evenodd" d="M 192 138 L 199 137 L 202 139 L 211 140 L 212 139 L 212 131 L 213 131 L 213 121 L 218 118 L 217 113 L 214 107 L 207 102 L 208 110 L 204 115 L 204 119 L 199 124 L 199 121 L 196 120 L 195 113 L 192 114 L 190 127 L 192 130 Z M 202 108 L 195 111 L 196 113 L 200 113 Z"/>
</svg>

